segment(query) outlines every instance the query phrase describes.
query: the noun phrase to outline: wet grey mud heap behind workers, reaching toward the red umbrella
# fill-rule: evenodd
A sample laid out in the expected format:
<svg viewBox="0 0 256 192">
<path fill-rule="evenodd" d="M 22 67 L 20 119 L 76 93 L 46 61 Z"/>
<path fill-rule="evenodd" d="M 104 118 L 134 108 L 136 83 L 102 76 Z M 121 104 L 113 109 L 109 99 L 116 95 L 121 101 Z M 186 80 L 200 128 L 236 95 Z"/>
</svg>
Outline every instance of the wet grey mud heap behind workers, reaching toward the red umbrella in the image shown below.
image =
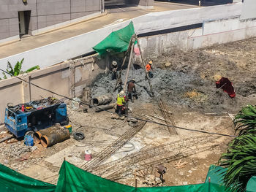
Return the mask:
<svg viewBox="0 0 256 192">
<path fill-rule="evenodd" d="M 124 70 L 122 72 L 122 80 L 125 77 Z M 136 80 L 136 89 L 138 92 L 138 101 L 157 103 L 157 97 L 165 99 L 167 104 L 173 106 L 191 107 L 203 109 L 206 111 L 223 111 L 229 109 L 236 99 L 230 99 L 227 93 L 222 90 L 215 93 L 215 82 L 212 80 L 202 79 L 200 75 L 185 72 L 176 72 L 166 69 L 155 69 L 154 77 L 151 78 L 151 85 L 154 89 L 154 98 L 148 94 L 148 81 L 145 80 L 143 69 L 131 70 L 128 80 Z M 92 88 L 93 96 L 100 96 L 107 93 L 113 94 L 116 98 L 118 91 L 113 91 L 116 80 L 111 80 L 111 74 L 102 75 L 94 82 Z M 196 92 L 195 96 L 189 94 Z"/>
</svg>

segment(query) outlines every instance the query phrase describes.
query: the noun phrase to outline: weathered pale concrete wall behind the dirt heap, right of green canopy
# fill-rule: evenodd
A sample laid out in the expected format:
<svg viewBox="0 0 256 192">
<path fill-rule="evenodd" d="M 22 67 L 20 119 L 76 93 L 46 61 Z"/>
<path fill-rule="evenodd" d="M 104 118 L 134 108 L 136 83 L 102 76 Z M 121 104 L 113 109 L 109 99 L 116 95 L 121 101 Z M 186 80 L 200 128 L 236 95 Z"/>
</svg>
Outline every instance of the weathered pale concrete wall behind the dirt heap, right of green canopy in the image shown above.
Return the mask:
<svg viewBox="0 0 256 192">
<path fill-rule="evenodd" d="M 206 21 L 203 28 L 142 37 L 139 41 L 145 57 L 157 57 L 168 53 L 173 47 L 189 50 L 250 37 L 256 37 L 256 20 L 233 18 Z"/>
</svg>

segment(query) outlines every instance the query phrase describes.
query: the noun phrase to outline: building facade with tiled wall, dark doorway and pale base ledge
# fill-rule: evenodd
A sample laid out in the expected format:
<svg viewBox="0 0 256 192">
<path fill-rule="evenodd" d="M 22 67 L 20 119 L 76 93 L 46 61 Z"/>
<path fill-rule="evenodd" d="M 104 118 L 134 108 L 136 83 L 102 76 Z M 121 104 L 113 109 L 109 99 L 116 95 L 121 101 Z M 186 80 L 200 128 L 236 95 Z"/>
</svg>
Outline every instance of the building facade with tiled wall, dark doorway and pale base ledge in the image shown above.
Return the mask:
<svg viewBox="0 0 256 192">
<path fill-rule="evenodd" d="M 0 43 L 75 23 L 104 12 L 106 5 L 152 6 L 154 0 L 0 0 Z"/>
</svg>

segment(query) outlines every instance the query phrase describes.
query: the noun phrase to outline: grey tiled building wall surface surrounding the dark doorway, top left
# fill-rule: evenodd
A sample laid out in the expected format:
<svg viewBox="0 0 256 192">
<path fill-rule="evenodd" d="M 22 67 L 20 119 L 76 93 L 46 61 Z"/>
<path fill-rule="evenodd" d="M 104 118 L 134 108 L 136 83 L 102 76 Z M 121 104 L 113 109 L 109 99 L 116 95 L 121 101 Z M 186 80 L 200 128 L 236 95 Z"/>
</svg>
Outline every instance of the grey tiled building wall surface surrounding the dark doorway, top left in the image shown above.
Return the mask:
<svg viewBox="0 0 256 192">
<path fill-rule="evenodd" d="M 19 36 L 18 12 L 31 10 L 29 34 L 100 12 L 100 0 L 0 0 L 0 40 Z M 66 23 L 64 23 L 66 24 Z"/>
</svg>

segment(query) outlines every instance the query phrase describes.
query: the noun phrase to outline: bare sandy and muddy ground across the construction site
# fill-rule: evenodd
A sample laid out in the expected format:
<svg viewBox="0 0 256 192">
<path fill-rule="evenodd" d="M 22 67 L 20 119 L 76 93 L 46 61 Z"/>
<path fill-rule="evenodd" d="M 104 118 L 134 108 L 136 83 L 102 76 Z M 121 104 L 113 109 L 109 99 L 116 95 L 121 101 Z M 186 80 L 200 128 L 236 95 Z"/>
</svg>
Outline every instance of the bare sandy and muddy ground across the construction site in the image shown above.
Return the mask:
<svg viewBox="0 0 256 192">
<path fill-rule="evenodd" d="M 167 102 L 167 109 L 171 114 L 170 118 L 173 124 L 197 131 L 233 135 L 233 115 L 245 104 L 256 104 L 255 53 L 256 39 L 247 39 L 186 53 L 181 50 L 173 50 L 159 58 L 152 58 L 154 65 L 158 68 L 154 77 L 156 78 L 154 88 L 159 96 L 162 96 L 162 99 Z M 167 63 L 169 64 L 166 65 Z M 157 74 L 161 70 L 165 71 L 165 76 Z M 175 74 L 175 78 L 170 78 L 168 82 L 159 82 L 168 74 Z M 216 90 L 214 81 L 216 75 L 227 77 L 233 82 L 237 93 L 235 99 L 230 99 L 227 93 L 222 90 Z M 108 76 L 104 78 L 106 77 Z M 152 81 L 154 81 L 154 78 Z M 182 86 L 176 86 L 176 80 L 179 81 L 177 82 L 178 85 L 184 83 L 182 80 L 189 80 L 189 83 L 184 84 L 185 88 L 183 88 Z M 98 84 L 97 88 L 99 87 Z M 94 88 L 94 91 L 97 88 Z M 195 94 L 187 94 L 187 92 L 192 91 Z M 210 97 L 211 95 L 213 97 Z M 141 117 L 143 114 L 157 114 L 161 116 L 156 99 L 148 99 L 144 102 L 143 96 L 144 93 L 141 94 L 140 99 L 129 104 L 129 107 L 133 109 L 131 115 Z M 110 111 L 113 112 L 113 110 Z M 73 130 L 83 131 L 85 139 L 78 142 L 71 137 L 48 148 L 36 145 L 37 147 L 33 151 L 31 149 L 23 150 L 23 141 L 12 139 L 9 143 L 3 142 L 0 144 L 0 162 L 30 177 L 56 184 L 59 168 L 64 158 L 76 166 L 83 166 L 86 149 L 90 149 L 93 158 L 97 158 L 97 154 L 102 149 L 131 128 L 127 122 L 115 127 L 122 120 L 111 119 L 110 112 L 84 113 L 83 110 L 68 109 L 68 115 Z M 140 153 L 141 148 L 150 149 L 151 147 L 163 146 L 191 137 L 205 136 L 209 139 L 213 137 L 212 134 L 202 134 L 197 131 L 177 128 L 178 135 L 170 135 L 166 126 L 146 123 L 127 145 L 121 147 L 102 164 L 120 158 L 123 159 L 130 154 Z M 4 135 L 6 135 L 4 132 L 0 134 L 1 137 L 4 137 Z M 143 169 L 148 174 L 154 174 L 154 166 L 157 164 L 145 166 L 145 161 L 160 162 L 159 158 L 162 156 L 166 157 L 166 161 L 161 161 L 161 164 L 167 167 L 163 185 L 203 183 L 206 179 L 208 167 L 211 164 L 217 164 L 230 139 L 232 137 L 216 137 L 203 145 L 181 146 L 182 150 L 179 152 L 170 148 L 166 151 L 163 150 L 162 155 L 145 156 L 142 161 L 136 162 L 138 167 L 131 166 L 130 169 L 124 167 L 124 172 L 119 175 L 116 181 L 127 185 L 135 185 L 135 175 L 133 174 L 135 169 Z M 22 150 L 21 153 L 20 150 Z M 173 155 L 176 157 L 178 154 L 182 154 L 184 157 L 179 159 L 173 157 Z M 119 164 L 116 164 L 116 169 L 118 169 Z M 176 166 L 177 164 L 184 164 L 184 166 Z M 137 177 L 137 179 L 139 186 L 147 186 L 143 184 L 143 178 Z"/>
</svg>

